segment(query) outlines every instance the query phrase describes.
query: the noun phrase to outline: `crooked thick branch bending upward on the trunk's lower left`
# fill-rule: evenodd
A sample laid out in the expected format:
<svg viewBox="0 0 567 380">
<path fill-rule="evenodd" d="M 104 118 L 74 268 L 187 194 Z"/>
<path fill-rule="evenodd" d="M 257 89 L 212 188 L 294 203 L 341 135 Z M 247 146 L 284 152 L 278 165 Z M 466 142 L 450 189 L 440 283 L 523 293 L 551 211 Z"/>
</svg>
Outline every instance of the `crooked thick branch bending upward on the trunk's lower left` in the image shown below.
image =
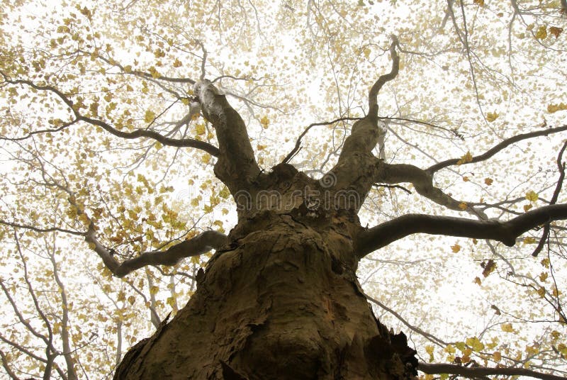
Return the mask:
<svg viewBox="0 0 567 380">
<path fill-rule="evenodd" d="M 195 238 L 180 242 L 165 251 L 143 252 L 140 256 L 125 260 L 122 263 L 119 263 L 112 252 L 96 239 L 94 228 L 89 227 L 85 240 L 92 245 L 94 251 L 115 276 L 123 277 L 147 265 L 174 265 L 185 257 L 198 256 L 210 250 L 217 250 L 224 245 L 226 235 L 212 230 L 205 231 Z"/>
</svg>

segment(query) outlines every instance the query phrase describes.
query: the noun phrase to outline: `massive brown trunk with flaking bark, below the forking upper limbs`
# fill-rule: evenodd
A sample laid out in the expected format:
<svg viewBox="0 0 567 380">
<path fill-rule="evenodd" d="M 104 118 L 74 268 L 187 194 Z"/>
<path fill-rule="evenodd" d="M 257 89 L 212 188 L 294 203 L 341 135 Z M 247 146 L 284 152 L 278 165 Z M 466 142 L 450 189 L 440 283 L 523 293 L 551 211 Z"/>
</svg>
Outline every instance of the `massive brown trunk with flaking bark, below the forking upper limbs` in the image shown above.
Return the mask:
<svg viewBox="0 0 567 380">
<path fill-rule="evenodd" d="M 408 379 L 415 351 L 376 320 L 355 277 L 352 213 L 240 220 L 173 320 L 115 379 Z"/>
</svg>

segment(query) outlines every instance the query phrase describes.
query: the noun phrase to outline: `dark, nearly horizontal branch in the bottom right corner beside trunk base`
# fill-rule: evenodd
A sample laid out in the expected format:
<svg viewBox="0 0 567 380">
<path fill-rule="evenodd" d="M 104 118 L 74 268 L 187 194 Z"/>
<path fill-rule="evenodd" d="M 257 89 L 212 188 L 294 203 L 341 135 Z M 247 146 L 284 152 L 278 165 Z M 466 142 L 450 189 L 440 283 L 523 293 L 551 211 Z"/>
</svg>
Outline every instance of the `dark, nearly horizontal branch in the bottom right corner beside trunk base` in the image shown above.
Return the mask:
<svg viewBox="0 0 567 380">
<path fill-rule="evenodd" d="M 463 367 L 456 364 L 429 364 L 420 362 L 420 371 L 425 374 L 454 374 L 476 379 L 481 376 L 504 375 L 504 376 L 529 376 L 541 380 L 565 380 L 563 376 L 542 374 L 527 368 L 489 368 L 489 367 Z"/>
</svg>

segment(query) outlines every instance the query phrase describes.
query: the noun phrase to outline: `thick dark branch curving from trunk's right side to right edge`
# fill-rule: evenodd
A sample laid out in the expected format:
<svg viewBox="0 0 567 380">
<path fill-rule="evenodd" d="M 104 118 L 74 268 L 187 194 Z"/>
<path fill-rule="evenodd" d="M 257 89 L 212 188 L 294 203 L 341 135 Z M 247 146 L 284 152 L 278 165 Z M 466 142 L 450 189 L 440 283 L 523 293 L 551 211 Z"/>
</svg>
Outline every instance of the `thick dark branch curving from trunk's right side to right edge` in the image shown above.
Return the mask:
<svg viewBox="0 0 567 380">
<path fill-rule="evenodd" d="M 507 222 L 407 214 L 361 233 L 357 238 L 356 249 L 358 256 L 364 257 L 374 250 L 414 233 L 490 239 L 512 247 L 516 238 L 527 230 L 561 219 L 567 219 L 567 203 L 536 208 Z"/>
</svg>

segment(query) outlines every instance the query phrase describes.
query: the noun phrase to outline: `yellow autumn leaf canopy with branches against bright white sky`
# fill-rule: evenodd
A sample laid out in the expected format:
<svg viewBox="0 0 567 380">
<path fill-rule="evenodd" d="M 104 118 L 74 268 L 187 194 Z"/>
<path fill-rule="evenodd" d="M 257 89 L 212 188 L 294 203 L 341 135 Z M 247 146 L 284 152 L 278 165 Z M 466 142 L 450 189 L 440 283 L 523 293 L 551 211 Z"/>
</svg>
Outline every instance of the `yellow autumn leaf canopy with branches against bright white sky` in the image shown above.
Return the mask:
<svg viewBox="0 0 567 380">
<path fill-rule="evenodd" d="M 378 318 L 427 379 L 567 376 L 566 23 L 563 0 L 3 4 L 2 370 L 111 376 L 195 291 L 242 177 L 340 181 L 375 115 Z"/>
</svg>

